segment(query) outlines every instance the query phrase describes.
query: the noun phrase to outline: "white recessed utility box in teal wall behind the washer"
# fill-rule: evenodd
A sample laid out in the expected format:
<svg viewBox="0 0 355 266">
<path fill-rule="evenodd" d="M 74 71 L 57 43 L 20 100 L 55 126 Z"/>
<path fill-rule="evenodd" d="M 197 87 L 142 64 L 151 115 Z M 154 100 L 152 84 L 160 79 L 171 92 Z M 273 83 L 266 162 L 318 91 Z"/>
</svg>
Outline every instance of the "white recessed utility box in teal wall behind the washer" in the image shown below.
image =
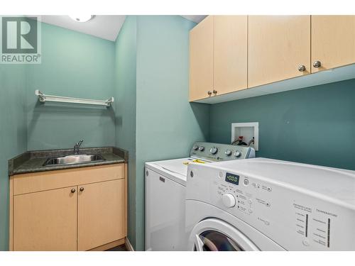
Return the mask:
<svg viewBox="0 0 355 266">
<path fill-rule="evenodd" d="M 249 143 L 254 137 L 254 145 L 251 145 L 255 150 L 259 150 L 259 123 L 231 123 L 231 143 L 237 140 L 242 135 L 243 141 Z"/>
</svg>

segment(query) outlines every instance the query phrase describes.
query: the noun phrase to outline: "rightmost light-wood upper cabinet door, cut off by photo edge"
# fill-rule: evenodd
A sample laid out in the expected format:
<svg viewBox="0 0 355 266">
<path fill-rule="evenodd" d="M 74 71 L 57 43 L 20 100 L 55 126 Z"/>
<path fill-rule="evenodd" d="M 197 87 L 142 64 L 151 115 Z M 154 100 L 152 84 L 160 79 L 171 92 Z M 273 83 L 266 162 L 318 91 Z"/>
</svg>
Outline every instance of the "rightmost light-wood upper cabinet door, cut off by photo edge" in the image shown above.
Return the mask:
<svg viewBox="0 0 355 266">
<path fill-rule="evenodd" d="M 312 16 L 312 72 L 355 63 L 355 16 Z"/>
</svg>

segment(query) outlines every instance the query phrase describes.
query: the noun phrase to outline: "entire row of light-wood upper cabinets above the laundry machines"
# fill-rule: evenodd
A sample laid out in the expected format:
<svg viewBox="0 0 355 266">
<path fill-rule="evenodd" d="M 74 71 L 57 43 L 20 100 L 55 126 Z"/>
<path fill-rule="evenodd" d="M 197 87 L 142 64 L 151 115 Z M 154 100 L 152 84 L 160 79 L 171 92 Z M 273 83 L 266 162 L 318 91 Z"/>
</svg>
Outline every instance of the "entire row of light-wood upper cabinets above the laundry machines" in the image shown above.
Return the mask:
<svg viewBox="0 0 355 266">
<path fill-rule="evenodd" d="M 328 69 L 334 71 L 312 74 Z M 190 101 L 214 104 L 353 78 L 355 16 L 208 16 L 190 31 Z"/>
</svg>

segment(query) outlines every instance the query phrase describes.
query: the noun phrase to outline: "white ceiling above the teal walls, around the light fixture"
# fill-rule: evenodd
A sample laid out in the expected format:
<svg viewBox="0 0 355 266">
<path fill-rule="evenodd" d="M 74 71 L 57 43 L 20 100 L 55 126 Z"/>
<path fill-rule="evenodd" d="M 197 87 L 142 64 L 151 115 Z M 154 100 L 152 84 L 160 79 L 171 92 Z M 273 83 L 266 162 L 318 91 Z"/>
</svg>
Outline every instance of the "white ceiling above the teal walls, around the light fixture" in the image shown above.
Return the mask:
<svg viewBox="0 0 355 266">
<path fill-rule="evenodd" d="M 190 21 L 199 23 L 206 16 L 182 16 Z M 87 22 L 73 21 L 69 16 L 40 16 L 40 20 L 60 26 L 62 28 L 68 28 L 72 31 L 79 31 L 81 33 L 87 33 L 106 40 L 115 41 L 121 26 L 124 24 L 126 16 L 119 15 L 98 15 L 94 16 L 92 20 Z"/>
</svg>

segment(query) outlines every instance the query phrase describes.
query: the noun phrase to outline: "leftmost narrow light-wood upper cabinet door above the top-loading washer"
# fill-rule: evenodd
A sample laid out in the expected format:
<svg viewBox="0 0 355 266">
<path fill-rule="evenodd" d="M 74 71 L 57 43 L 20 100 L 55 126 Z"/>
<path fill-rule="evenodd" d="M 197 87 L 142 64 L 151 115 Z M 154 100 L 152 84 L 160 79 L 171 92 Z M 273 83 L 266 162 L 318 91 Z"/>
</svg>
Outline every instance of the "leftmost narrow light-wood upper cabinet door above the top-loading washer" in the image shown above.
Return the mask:
<svg viewBox="0 0 355 266">
<path fill-rule="evenodd" d="M 213 90 L 213 21 L 208 16 L 190 31 L 190 101 Z"/>
</svg>

